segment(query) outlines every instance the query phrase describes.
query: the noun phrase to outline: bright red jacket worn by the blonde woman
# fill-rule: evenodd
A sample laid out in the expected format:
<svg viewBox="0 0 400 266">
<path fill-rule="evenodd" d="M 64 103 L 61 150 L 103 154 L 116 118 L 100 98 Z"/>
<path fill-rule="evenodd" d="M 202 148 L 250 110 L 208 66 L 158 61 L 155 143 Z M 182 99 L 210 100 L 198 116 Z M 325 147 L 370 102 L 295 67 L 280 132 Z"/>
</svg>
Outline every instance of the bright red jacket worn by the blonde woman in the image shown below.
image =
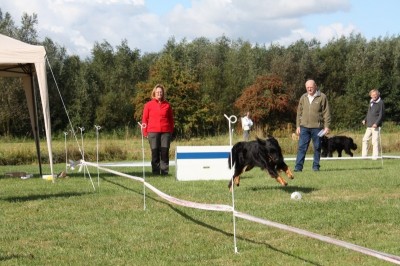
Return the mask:
<svg viewBox="0 0 400 266">
<path fill-rule="evenodd" d="M 174 132 L 174 116 L 172 107 L 167 101 L 159 102 L 152 99 L 144 105 L 142 124 L 143 136 L 147 137 L 149 132 Z"/>
</svg>

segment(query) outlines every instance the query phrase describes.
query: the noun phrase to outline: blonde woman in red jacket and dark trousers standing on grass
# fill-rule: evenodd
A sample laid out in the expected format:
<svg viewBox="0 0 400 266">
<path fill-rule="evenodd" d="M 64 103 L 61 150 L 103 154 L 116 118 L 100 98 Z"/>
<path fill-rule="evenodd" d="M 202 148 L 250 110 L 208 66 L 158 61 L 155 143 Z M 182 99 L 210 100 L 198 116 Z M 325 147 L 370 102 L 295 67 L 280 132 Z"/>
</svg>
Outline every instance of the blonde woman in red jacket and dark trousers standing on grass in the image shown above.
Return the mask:
<svg viewBox="0 0 400 266">
<path fill-rule="evenodd" d="M 143 136 L 150 143 L 153 174 L 167 175 L 174 116 L 171 105 L 165 99 L 163 85 L 157 84 L 151 92 L 151 100 L 144 105 L 142 124 L 146 125 Z"/>
</svg>

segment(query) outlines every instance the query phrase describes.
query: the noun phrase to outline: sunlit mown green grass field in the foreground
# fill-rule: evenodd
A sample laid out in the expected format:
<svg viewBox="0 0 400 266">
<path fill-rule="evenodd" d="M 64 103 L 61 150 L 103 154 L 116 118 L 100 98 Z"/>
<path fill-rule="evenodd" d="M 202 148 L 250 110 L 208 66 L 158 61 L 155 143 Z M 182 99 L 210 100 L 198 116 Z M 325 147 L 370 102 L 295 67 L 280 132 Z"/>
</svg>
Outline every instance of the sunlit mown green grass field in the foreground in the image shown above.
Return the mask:
<svg viewBox="0 0 400 266">
<path fill-rule="evenodd" d="M 293 168 L 293 162 L 288 162 Z M 289 186 L 259 169 L 235 188 L 235 208 L 370 249 L 400 256 L 398 160 L 306 161 Z M 57 164 L 56 171 L 65 168 Z M 232 214 L 172 205 L 131 179 L 89 168 L 55 183 L 37 177 L 0 179 L 2 265 L 390 265 L 377 258 Z M 141 168 L 118 171 L 142 176 Z M 147 175 L 150 169 L 147 170 Z M 1 166 L 0 173 L 37 166 Z M 174 169 L 171 169 L 171 173 Z M 231 205 L 227 181 L 146 181 L 180 199 Z M 293 191 L 303 195 L 290 199 Z"/>
</svg>

